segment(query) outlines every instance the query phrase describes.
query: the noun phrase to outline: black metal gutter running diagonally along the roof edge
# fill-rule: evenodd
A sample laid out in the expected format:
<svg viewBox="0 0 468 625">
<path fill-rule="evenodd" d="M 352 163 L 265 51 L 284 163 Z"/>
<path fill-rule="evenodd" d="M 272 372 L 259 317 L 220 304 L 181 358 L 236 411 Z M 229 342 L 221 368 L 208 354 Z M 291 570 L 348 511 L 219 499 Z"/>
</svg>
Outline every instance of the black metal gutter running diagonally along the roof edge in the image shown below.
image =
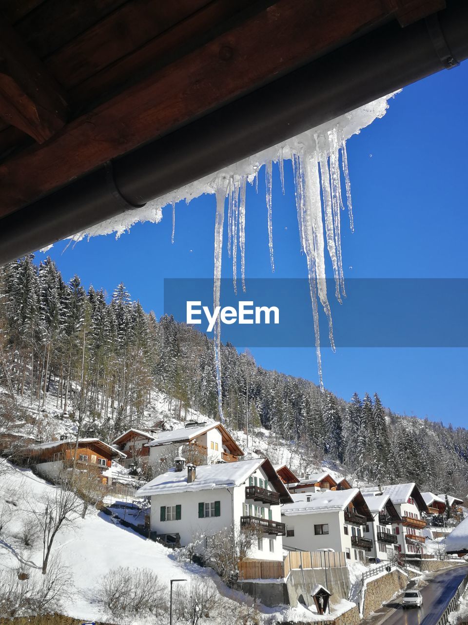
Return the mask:
<svg viewBox="0 0 468 625">
<path fill-rule="evenodd" d="M 466 0 L 406 28 L 386 24 L 4 217 L 0 265 L 466 58 Z"/>
</svg>

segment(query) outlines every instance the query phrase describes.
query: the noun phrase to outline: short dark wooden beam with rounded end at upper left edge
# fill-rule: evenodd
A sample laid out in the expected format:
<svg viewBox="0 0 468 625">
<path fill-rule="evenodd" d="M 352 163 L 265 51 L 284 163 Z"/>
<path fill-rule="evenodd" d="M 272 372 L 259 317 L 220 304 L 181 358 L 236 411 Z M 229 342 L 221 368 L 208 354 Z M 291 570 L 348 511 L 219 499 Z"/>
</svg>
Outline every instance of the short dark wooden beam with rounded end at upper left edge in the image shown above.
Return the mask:
<svg viewBox="0 0 468 625">
<path fill-rule="evenodd" d="M 61 88 L 0 16 L 0 117 L 43 143 L 67 116 Z"/>
</svg>

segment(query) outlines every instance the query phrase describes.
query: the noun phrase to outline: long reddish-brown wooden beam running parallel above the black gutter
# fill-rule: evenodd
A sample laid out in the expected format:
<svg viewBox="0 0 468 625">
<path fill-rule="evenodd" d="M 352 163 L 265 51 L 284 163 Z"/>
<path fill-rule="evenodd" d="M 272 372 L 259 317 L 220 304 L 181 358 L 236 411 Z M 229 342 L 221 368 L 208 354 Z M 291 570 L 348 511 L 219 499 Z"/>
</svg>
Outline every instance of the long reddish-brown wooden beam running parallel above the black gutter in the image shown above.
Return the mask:
<svg viewBox="0 0 468 625">
<path fill-rule="evenodd" d="M 278 0 L 4 162 L 0 216 L 392 18 L 382 0 Z"/>
</svg>

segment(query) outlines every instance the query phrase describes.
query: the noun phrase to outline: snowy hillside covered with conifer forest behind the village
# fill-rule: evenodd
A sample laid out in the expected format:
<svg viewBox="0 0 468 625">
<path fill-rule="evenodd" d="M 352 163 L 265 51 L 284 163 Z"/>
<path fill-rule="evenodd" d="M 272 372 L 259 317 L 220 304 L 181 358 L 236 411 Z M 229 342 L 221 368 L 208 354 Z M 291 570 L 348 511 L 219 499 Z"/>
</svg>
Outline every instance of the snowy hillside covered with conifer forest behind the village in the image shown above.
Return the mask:
<svg viewBox="0 0 468 625">
<path fill-rule="evenodd" d="M 65 284 L 51 259 L 33 261 L 0 271 L 0 434 L 79 432 L 110 442 L 129 426 L 217 418 L 212 340 L 172 317 L 157 321 L 123 284 L 108 304 L 77 276 Z M 257 367 L 230 344 L 221 362 L 225 424 L 250 451 L 292 458 L 299 472 L 326 462 L 359 482 L 468 491 L 466 429 L 399 416 L 377 395 L 345 402 Z"/>
</svg>

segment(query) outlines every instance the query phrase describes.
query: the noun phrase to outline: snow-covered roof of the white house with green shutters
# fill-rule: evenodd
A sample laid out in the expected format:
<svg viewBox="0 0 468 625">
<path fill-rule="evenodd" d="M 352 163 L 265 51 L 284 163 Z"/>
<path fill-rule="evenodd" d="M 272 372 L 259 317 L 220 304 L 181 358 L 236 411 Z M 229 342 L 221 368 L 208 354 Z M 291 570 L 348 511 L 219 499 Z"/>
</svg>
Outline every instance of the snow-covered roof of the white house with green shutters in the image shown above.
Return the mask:
<svg viewBox="0 0 468 625">
<path fill-rule="evenodd" d="M 190 483 L 187 482 L 187 471 L 170 469 L 167 473 L 158 475 L 142 486 L 136 494 L 139 497 L 149 497 L 169 492 L 209 491 L 215 488 L 241 486 L 261 466 L 265 469 L 271 483 L 274 479 L 276 491 L 280 492 L 283 498 L 291 501 L 288 489 L 276 475 L 270 461 L 265 458 L 199 466 L 196 469 L 195 481 Z"/>
</svg>

